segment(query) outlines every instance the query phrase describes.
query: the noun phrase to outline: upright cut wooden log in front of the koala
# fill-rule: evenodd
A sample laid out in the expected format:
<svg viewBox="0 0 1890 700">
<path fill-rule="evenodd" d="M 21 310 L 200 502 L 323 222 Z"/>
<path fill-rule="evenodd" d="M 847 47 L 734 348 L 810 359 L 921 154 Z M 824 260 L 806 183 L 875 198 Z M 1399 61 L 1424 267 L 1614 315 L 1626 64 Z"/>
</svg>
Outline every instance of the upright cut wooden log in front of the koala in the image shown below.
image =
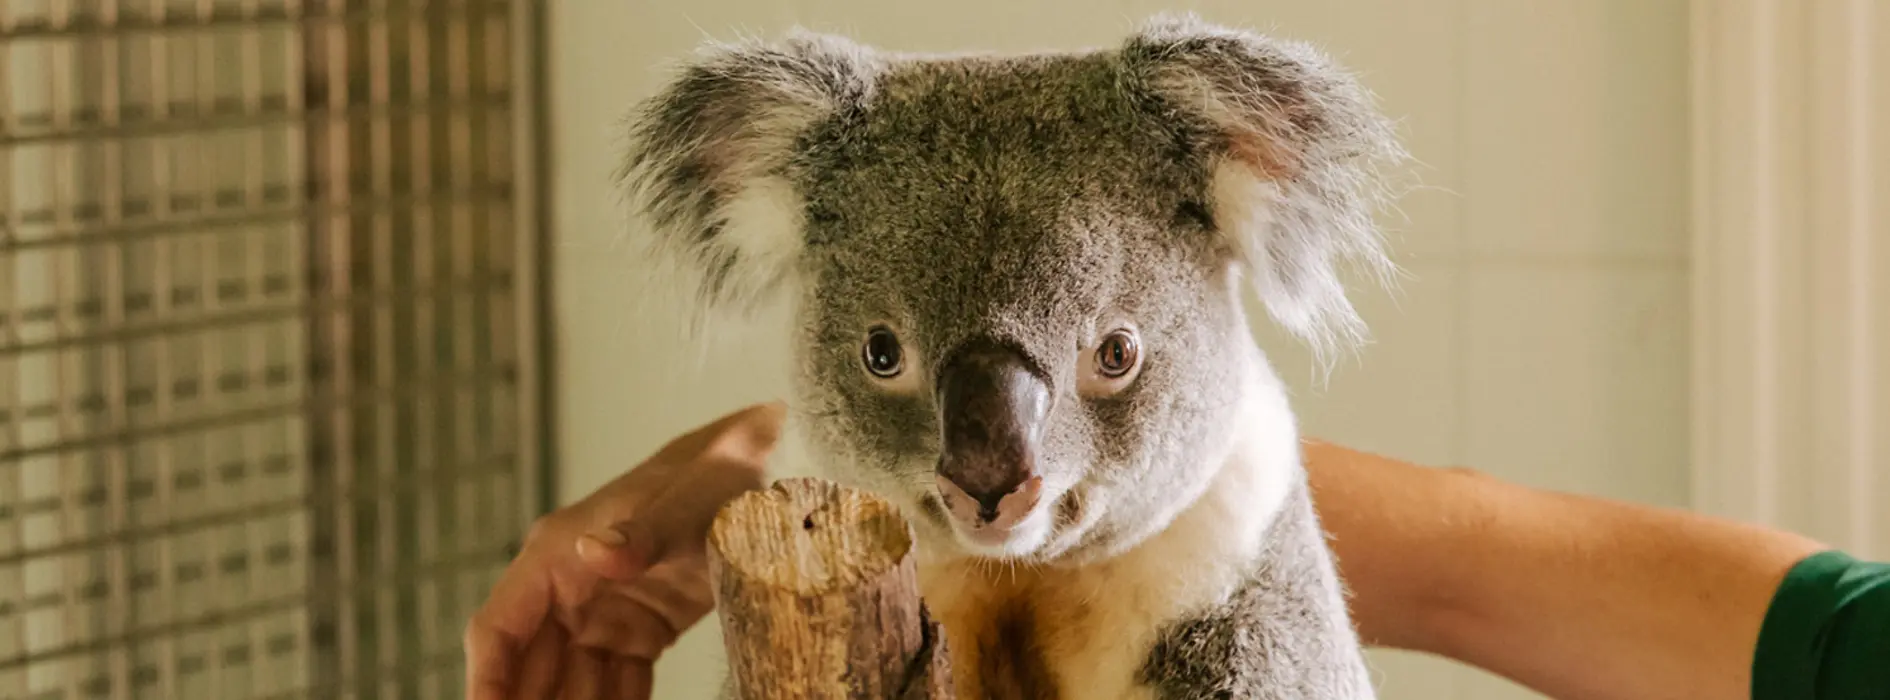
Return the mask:
<svg viewBox="0 0 1890 700">
<path fill-rule="evenodd" d="M 919 596 L 911 524 L 862 490 L 782 479 L 709 528 L 709 575 L 741 700 L 943 700 L 943 628 Z"/>
</svg>

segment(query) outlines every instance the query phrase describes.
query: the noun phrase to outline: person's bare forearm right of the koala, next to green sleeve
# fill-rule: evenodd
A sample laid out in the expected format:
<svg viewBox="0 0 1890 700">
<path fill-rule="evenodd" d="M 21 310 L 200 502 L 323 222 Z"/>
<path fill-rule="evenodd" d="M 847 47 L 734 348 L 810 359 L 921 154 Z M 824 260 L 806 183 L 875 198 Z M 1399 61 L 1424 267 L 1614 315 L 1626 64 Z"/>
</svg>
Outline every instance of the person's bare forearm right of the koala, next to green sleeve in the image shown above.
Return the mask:
<svg viewBox="0 0 1890 700">
<path fill-rule="evenodd" d="M 1308 443 L 1372 645 L 1561 700 L 1750 698 L 1773 588 L 1820 543 Z"/>
</svg>

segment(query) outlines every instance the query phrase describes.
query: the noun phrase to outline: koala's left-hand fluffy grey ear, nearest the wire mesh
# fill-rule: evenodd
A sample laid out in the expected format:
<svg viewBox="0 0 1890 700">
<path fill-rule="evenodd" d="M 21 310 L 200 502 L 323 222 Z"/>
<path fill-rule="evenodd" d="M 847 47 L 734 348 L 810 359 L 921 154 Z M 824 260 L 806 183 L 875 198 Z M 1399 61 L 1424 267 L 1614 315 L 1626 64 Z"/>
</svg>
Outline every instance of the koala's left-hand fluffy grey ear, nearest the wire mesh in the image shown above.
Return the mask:
<svg viewBox="0 0 1890 700">
<path fill-rule="evenodd" d="M 650 227 L 644 252 L 696 278 L 699 310 L 748 310 L 794 276 L 799 138 L 862 104 L 877 64 L 866 47 L 803 30 L 709 44 L 631 112 L 618 182 Z"/>
</svg>

